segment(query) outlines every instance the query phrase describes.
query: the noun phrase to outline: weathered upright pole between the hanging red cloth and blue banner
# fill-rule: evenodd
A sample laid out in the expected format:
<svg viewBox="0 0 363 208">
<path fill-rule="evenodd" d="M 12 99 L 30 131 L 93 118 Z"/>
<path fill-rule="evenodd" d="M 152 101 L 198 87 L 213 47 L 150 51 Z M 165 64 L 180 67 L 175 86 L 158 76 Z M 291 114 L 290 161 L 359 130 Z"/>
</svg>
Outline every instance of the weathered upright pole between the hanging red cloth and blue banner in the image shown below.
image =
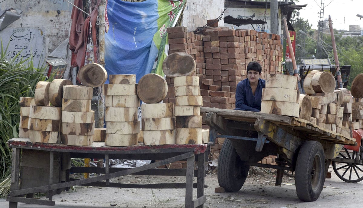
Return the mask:
<svg viewBox="0 0 363 208">
<path fill-rule="evenodd" d="M 99 4 L 99 21 L 100 25 L 98 27 L 98 51 L 99 51 L 99 64 L 102 67 L 105 67 L 105 8 L 106 1 L 102 0 Z M 105 99 L 103 98 L 103 85 L 98 87 L 98 122 L 96 128 L 103 128 L 103 120 L 104 120 L 104 108 L 105 108 Z"/>
</svg>

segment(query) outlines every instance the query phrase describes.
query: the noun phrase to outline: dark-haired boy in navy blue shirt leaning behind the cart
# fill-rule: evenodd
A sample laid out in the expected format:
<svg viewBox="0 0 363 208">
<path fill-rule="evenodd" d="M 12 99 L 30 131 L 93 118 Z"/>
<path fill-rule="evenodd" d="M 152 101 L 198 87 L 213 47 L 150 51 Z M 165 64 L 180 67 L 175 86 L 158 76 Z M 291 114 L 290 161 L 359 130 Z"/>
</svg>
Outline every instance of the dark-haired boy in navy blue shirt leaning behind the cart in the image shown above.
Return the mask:
<svg viewBox="0 0 363 208">
<path fill-rule="evenodd" d="M 236 108 L 242 111 L 261 111 L 262 88 L 265 80 L 260 78 L 261 65 L 251 61 L 247 65 L 247 79 L 240 81 L 236 88 Z"/>
</svg>

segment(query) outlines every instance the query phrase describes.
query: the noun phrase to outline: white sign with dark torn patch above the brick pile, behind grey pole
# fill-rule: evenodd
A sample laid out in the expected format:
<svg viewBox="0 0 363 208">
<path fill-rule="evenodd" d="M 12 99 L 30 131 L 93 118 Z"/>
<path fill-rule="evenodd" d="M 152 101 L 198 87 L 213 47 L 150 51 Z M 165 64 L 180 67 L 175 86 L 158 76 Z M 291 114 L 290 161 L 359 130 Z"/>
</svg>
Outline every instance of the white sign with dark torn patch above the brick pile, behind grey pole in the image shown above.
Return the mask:
<svg viewBox="0 0 363 208">
<path fill-rule="evenodd" d="M 234 24 L 226 23 L 226 17 L 231 16 Z M 224 26 L 234 29 L 253 29 L 258 32 L 271 32 L 271 13 L 270 9 L 257 9 L 257 8 L 227 8 L 224 12 Z M 249 24 L 239 24 L 250 19 Z M 240 21 L 239 21 L 240 20 Z M 266 23 L 250 24 L 254 21 L 262 20 Z M 260 21 L 261 22 L 261 21 Z M 281 11 L 278 10 L 278 31 L 281 31 Z M 280 34 L 278 34 L 280 35 Z"/>
</svg>

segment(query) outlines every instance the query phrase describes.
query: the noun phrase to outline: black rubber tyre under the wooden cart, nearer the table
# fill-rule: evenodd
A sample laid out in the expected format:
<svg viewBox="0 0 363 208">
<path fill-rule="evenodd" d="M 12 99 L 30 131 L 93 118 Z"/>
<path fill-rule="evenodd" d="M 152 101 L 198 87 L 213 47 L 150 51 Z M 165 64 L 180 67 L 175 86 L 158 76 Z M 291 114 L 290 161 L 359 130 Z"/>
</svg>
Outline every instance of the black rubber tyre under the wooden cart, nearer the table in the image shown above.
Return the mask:
<svg viewBox="0 0 363 208">
<path fill-rule="evenodd" d="M 239 191 L 245 183 L 249 165 L 244 165 L 231 140 L 223 143 L 218 159 L 218 183 L 228 192 Z"/>
</svg>

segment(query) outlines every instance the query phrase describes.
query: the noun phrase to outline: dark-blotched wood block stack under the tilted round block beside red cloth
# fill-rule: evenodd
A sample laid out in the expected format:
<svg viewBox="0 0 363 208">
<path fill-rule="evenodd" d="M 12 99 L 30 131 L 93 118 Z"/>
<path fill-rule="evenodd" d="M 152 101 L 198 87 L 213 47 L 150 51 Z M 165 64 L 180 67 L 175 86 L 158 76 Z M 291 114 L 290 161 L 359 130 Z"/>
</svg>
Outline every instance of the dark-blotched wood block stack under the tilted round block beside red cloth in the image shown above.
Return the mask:
<svg viewBox="0 0 363 208">
<path fill-rule="evenodd" d="M 62 143 L 91 145 L 94 133 L 94 111 L 91 111 L 93 88 L 77 85 L 63 87 Z"/>
</svg>

